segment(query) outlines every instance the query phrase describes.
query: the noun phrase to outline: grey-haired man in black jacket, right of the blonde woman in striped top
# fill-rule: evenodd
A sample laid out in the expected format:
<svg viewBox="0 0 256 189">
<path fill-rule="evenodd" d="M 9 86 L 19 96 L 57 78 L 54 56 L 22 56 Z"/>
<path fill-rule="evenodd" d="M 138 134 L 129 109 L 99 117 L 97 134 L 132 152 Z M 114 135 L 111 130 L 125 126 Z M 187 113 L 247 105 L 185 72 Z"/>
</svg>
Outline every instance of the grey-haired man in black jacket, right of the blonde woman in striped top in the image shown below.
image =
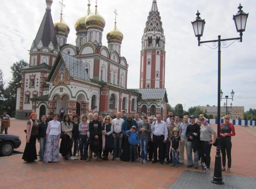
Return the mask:
<svg viewBox="0 0 256 189">
<path fill-rule="evenodd" d="M 102 125 L 98 120 L 98 113 L 94 113 L 92 121 L 89 123 L 90 132 L 90 157 L 88 161 L 91 160 L 92 151 L 97 155 L 97 161 L 100 160 L 100 149 L 102 148 Z"/>
</svg>

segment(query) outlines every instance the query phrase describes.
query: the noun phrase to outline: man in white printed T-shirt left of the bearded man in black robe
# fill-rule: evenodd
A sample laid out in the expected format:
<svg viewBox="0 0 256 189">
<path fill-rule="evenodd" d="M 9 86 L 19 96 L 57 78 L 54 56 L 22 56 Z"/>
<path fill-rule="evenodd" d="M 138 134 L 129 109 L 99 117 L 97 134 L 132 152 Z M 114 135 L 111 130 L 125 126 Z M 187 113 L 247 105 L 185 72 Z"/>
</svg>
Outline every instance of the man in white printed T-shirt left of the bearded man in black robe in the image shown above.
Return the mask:
<svg viewBox="0 0 256 189">
<path fill-rule="evenodd" d="M 121 112 L 117 112 L 116 118 L 112 120 L 113 125 L 113 139 L 114 139 L 114 152 L 113 158 L 114 160 L 118 157 L 118 160 L 121 158 L 122 154 L 122 145 L 123 145 L 123 133 L 122 133 L 122 123 L 123 119 L 121 117 Z M 118 151 L 117 151 L 118 148 Z"/>
</svg>

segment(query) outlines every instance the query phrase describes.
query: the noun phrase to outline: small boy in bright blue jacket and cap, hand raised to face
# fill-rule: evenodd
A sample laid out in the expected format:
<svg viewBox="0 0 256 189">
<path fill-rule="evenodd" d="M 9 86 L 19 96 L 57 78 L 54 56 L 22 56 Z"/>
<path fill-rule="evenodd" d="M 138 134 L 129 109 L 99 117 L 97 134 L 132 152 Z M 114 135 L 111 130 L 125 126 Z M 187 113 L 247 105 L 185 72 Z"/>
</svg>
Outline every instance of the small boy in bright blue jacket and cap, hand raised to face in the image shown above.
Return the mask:
<svg viewBox="0 0 256 189">
<path fill-rule="evenodd" d="M 126 135 L 129 135 L 129 144 L 130 144 L 130 161 L 132 162 L 134 158 L 134 162 L 137 160 L 137 146 L 140 146 L 140 138 L 136 133 L 136 126 L 132 126 L 130 130 L 125 131 Z"/>
</svg>

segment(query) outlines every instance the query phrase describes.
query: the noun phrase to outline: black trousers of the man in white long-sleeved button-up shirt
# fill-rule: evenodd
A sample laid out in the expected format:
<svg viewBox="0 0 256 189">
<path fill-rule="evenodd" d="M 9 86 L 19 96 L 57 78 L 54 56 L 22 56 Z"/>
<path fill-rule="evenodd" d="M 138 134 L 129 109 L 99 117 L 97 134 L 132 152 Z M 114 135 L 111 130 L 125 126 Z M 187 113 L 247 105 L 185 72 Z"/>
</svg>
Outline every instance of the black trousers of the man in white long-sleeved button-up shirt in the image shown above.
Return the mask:
<svg viewBox="0 0 256 189">
<path fill-rule="evenodd" d="M 164 162 L 164 135 L 156 136 L 153 135 L 154 143 L 154 161 L 157 161 L 157 148 L 158 148 L 158 157 L 159 161 Z"/>
</svg>

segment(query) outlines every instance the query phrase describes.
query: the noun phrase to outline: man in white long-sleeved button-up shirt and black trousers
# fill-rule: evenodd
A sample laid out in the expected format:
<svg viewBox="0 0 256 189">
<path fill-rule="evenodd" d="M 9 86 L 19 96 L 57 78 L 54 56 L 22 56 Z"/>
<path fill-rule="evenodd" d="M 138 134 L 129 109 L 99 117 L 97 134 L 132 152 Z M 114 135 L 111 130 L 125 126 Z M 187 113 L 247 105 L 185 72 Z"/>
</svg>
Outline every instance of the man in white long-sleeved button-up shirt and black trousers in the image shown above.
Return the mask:
<svg viewBox="0 0 256 189">
<path fill-rule="evenodd" d="M 162 116 L 160 114 L 156 115 L 156 122 L 153 122 L 151 126 L 151 141 L 154 144 L 154 161 L 152 163 L 157 162 L 157 147 L 159 153 L 159 161 L 161 164 L 164 164 L 164 143 L 167 141 L 168 130 L 167 125 L 164 121 L 162 121 Z"/>
</svg>

